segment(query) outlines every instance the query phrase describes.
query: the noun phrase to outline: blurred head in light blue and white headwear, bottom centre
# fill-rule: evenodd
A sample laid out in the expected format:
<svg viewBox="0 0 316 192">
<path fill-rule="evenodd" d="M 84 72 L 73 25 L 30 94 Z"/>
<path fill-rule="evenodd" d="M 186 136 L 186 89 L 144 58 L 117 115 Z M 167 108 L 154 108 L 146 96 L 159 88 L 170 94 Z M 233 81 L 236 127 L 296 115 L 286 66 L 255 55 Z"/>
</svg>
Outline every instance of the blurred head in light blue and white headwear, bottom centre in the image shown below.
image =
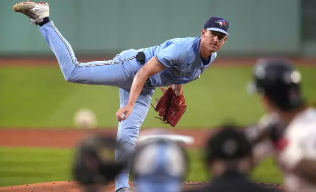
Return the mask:
<svg viewBox="0 0 316 192">
<path fill-rule="evenodd" d="M 186 171 L 184 148 L 169 139 L 150 139 L 135 150 L 132 174 L 137 192 L 181 192 Z"/>
</svg>

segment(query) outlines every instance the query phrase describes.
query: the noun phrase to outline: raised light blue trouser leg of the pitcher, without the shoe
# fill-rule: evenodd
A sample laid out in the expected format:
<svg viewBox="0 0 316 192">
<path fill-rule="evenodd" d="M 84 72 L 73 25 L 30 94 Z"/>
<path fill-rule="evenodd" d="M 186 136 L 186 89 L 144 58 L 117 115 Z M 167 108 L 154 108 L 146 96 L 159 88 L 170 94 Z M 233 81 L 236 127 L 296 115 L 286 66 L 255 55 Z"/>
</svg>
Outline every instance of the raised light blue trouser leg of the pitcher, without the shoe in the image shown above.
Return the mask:
<svg viewBox="0 0 316 192">
<path fill-rule="evenodd" d="M 124 64 L 137 62 L 136 55 L 124 59 L 115 57 L 108 61 L 79 63 L 70 44 L 52 21 L 41 26 L 40 31 L 53 50 L 61 72 L 69 82 L 121 87 L 134 75 L 131 65 Z"/>
</svg>

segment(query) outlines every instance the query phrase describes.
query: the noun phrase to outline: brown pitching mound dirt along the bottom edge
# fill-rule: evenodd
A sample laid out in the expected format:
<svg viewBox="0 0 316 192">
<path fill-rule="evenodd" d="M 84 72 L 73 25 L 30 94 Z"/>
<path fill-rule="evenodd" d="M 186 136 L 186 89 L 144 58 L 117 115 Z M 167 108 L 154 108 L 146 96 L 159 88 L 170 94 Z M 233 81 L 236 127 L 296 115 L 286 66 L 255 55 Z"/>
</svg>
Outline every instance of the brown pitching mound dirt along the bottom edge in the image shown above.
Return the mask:
<svg viewBox="0 0 316 192">
<path fill-rule="evenodd" d="M 206 182 L 185 182 L 183 184 L 183 189 L 188 190 L 190 188 L 203 187 Z M 284 186 L 267 184 L 267 183 L 258 183 L 269 188 L 279 188 L 285 190 Z M 130 182 L 130 186 L 133 184 Z M 114 192 L 114 184 L 108 185 L 102 190 L 103 192 Z M 11 187 L 0 187 L 0 192 L 82 192 L 79 185 L 73 181 L 56 181 L 56 182 L 47 182 L 47 183 L 36 183 L 29 185 L 19 185 Z"/>
</svg>

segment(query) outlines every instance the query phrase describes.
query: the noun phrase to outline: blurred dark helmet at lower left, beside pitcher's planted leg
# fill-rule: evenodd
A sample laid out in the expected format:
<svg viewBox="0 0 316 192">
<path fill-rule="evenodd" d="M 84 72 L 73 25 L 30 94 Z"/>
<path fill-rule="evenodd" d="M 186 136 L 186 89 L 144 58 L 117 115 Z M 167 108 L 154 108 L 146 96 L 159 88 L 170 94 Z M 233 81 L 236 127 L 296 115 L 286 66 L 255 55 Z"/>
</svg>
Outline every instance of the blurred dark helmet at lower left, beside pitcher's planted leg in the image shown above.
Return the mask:
<svg viewBox="0 0 316 192">
<path fill-rule="evenodd" d="M 75 149 L 73 177 L 83 186 L 107 185 L 127 166 L 127 158 L 115 161 L 115 149 L 122 148 L 114 136 L 94 134 L 82 139 Z"/>
</svg>

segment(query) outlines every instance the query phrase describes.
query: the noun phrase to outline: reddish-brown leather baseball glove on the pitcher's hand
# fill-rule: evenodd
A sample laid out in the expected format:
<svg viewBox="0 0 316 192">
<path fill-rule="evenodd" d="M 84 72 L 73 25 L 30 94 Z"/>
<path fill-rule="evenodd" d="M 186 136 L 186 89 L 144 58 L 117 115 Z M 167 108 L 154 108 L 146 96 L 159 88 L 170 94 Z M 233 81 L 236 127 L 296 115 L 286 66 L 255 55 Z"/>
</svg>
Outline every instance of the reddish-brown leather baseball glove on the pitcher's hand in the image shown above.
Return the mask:
<svg viewBox="0 0 316 192">
<path fill-rule="evenodd" d="M 186 110 L 184 94 L 181 96 L 176 96 L 176 93 L 173 91 L 172 87 L 169 87 L 167 90 L 164 88 L 160 89 L 163 92 L 163 95 L 160 97 L 160 99 L 156 98 L 156 107 L 151 104 L 155 111 L 158 112 L 158 115 L 162 117 L 156 118 L 162 120 L 165 124 L 170 124 L 171 126 L 175 127 Z"/>
</svg>

